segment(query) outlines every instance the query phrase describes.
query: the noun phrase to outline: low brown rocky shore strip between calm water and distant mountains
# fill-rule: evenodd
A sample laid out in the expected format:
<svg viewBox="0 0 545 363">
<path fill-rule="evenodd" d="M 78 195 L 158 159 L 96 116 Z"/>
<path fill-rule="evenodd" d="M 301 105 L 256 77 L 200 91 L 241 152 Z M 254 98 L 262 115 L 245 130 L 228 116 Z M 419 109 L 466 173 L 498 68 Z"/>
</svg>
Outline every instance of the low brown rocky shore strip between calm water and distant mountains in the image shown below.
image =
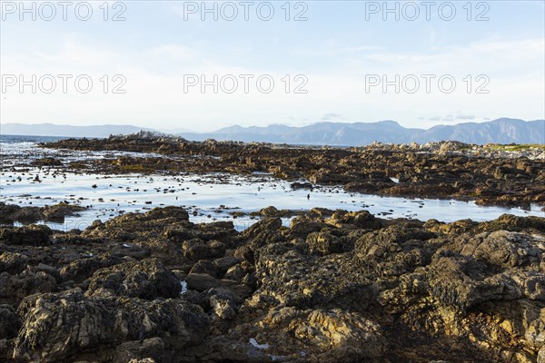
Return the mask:
<svg viewBox="0 0 545 363">
<path fill-rule="evenodd" d="M 542 145 L 469 145 L 461 142 L 375 143 L 359 148 L 189 142 L 141 132 L 108 139 L 45 143 L 55 149 L 153 153 L 70 162 L 72 171 L 104 173 L 269 172 L 287 181 L 342 185 L 378 195 L 477 201 L 483 205 L 545 206 Z M 63 164 L 54 160 L 35 161 Z"/>
</svg>

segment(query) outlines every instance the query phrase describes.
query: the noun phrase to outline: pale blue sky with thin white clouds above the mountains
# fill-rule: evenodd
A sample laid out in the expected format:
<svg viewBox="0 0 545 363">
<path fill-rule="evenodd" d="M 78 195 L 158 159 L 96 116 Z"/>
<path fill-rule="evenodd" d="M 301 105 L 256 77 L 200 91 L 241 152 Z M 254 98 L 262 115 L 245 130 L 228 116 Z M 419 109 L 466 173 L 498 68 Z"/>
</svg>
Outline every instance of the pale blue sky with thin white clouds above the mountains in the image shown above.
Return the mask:
<svg viewBox="0 0 545 363">
<path fill-rule="evenodd" d="M 0 123 L 545 118 L 545 1 L 0 1 Z"/>
</svg>

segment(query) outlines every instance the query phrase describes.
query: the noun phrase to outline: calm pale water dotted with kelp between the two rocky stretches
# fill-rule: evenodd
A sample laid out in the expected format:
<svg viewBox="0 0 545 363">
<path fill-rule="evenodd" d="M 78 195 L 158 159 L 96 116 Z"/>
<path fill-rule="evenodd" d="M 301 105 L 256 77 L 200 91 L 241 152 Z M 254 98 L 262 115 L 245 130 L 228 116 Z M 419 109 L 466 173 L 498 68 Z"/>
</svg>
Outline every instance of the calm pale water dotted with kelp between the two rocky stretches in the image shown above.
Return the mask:
<svg viewBox="0 0 545 363">
<path fill-rule="evenodd" d="M 21 206 L 43 206 L 69 201 L 89 209 L 81 217 L 67 217 L 64 224 L 47 223 L 55 229 L 84 229 L 96 219 L 108 220 L 127 211 L 145 211 L 158 206 L 187 208 L 192 221 L 234 221 L 243 230 L 253 220 L 249 216 L 233 219 L 233 211 L 259 211 L 273 205 L 278 209 L 307 211 L 313 207 L 368 210 L 382 218 L 416 218 L 457 221 L 471 218 L 489 221 L 503 213 L 545 217 L 540 207 L 530 211 L 500 207 L 481 207 L 473 202 L 408 200 L 395 197 L 348 193 L 342 188 L 316 188 L 313 191 L 290 188 L 266 174 L 242 177 L 226 174 L 115 175 L 75 174 L 55 168 L 22 170 L 20 162 L 54 156 L 63 162 L 80 159 L 116 158 L 120 155 L 145 156 L 134 152 L 73 152 L 41 149 L 36 142 L 53 141 L 37 137 L 0 138 L 2 163 L 0 201 Z M 58 138 L 57 138 L 58 139 Z M 156 155 L 160 156 L 160 155 Z M 36 175 L 41 182 L 35 182 Z M 95 186 L 95 188 L 93 188 Z M 284 220 L 286 223 L 288 220 Z"/>
</svg>

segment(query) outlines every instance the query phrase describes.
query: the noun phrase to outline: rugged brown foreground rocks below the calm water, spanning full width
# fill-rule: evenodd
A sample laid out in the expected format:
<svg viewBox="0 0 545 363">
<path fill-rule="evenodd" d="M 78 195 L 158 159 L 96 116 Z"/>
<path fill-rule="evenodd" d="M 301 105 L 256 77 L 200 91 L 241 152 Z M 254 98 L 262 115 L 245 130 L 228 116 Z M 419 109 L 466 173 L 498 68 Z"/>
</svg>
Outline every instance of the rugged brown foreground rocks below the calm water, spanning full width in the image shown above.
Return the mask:
<svg viewBox="0 0 545 363">
<path fill-rule="evenodd" d="M 544 362 L 545 219 L 0 228 L 2 362 Z"/>
</svg>

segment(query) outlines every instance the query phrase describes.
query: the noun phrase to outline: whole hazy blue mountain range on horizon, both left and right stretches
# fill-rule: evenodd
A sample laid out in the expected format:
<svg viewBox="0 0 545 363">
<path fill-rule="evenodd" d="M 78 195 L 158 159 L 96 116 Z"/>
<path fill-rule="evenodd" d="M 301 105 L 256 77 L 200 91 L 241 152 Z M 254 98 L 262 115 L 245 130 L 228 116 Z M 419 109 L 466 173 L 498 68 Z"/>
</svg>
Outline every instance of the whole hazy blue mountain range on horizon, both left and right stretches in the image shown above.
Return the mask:
<svg viewBox="0 0 545 363">
<path fill-rule="evenodd" d="M 64 126 L 52 123 L 26 125 L 4 123 L 1 134 L 25 134 L 41 136 L 107 137 L 110 134 L 127 134 L 138 131 L 154 131 L 130 125 Z M 371 142 L 440 142 L 455 140 L 484 144 L 494 143 L 541 143 L 545 144 L 545 120 L 523 121 L 502 118 L 486 123 L 459 123 L 438 125 L 431 129 L 405 128 L 395 121 L 377 123 L 312 123 L 292 127 L 270 125 L 265 127 L 231 126 L 215 132 L 180 132 L 188 140 L 206 139 L 243 142 L 275 142 L 314 145 L 365 145 Z"/>
</svg>

